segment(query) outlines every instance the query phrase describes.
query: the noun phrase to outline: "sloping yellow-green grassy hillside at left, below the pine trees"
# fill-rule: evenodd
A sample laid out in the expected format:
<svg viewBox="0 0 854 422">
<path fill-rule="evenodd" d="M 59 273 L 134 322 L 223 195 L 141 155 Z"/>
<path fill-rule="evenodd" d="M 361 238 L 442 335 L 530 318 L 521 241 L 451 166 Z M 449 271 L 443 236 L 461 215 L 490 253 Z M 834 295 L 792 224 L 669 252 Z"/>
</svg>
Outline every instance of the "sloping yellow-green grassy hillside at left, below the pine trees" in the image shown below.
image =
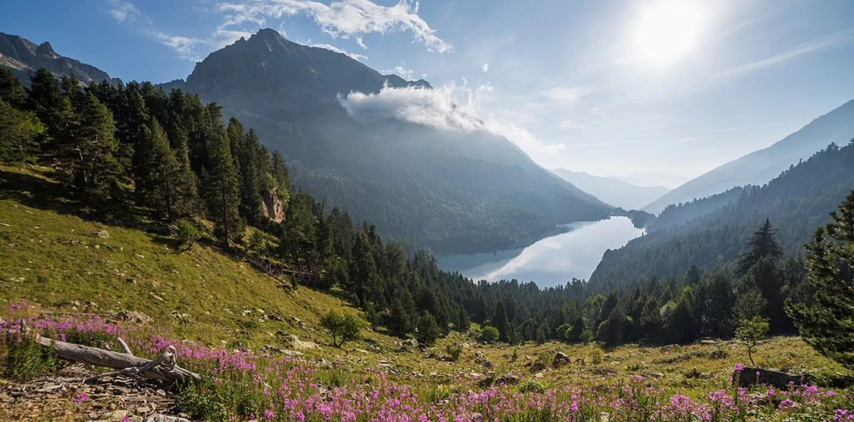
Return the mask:
<svg viewBox="0 0 854 422">
<path fill-rule="evenodd" d="M 277 331 L 319 342 L 319 315 L 358 312 L 203 244 L 182 252 L 168 232 L 142 230 L 151 229 L 144 220 L 117 218 L 126 227 L 86 220 L 59 190 L 42 173 L 0 167 L 4 302 L 25 299 L 51 312 L 142 312 L 173 337 L 206 343 L 272 343 Z"/>
</svg>

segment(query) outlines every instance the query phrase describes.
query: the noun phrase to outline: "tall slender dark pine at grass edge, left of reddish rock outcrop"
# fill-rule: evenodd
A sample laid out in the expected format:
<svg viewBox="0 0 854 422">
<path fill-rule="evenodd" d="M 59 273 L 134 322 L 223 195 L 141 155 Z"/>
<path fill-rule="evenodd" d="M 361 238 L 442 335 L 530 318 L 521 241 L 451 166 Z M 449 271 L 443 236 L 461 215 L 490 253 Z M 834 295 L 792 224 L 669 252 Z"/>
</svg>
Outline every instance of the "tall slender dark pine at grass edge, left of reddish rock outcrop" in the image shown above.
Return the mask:
<svg viewBox="0 0 854 422">
<path fill-rule="evenodd" d="M 243 235 L 237 207 L 240 204 L 240 183 L 231 158 L 231 148 L 225 133 L 213 139 L 210 149 L 210 173 L 205 183 L 208 212 L 216 224 L 214 232 L 224 249 Z"/>
</svg>

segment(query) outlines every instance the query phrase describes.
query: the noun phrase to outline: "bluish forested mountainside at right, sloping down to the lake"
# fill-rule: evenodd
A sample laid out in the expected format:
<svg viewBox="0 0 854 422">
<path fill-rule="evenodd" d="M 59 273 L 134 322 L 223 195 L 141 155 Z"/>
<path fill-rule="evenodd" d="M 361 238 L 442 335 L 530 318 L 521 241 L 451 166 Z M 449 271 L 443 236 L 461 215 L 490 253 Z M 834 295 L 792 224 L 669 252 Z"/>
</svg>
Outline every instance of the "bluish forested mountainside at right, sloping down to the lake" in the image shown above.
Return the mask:
<svg viewBox="0 0 854 422">
<path fill-rule="evenodd" d="M 689 267 L 715 268 L 732 263 L 757 226 L 769 219 L 777 240 L 790 256 L 803 254 L 816 227 L 854 189 L 854 142 L 831 144 L 808 160 L 782 172 L 763 186 L 729 190 L 699 202 L 668 208 L 661 216 L 672 226 L 635 238 L 623 248 L 607 250 L 590 284 L 610 290 L 638 280 L 678 277 Z M 677 224 L 676 219 L 708 205 L 709 214 Z M 674 217 L 670 220 L 670 214 Z"/>
</svg>

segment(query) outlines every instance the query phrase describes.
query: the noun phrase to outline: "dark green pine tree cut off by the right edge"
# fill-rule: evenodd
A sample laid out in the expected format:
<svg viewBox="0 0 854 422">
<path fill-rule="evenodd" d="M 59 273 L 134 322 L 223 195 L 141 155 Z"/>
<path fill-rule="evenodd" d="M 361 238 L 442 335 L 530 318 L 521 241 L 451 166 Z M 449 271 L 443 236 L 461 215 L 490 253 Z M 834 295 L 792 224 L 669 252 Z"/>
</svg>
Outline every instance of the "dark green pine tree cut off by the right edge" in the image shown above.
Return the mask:
<svg viewBox="0 0 854 422">
<path fill-rule="evenodd" d="M 854 191 L 828 226 L 807 243 L 806 303 L 788 303 L 801 337 L 822 355 L 854 369 Z"/>
</svg>

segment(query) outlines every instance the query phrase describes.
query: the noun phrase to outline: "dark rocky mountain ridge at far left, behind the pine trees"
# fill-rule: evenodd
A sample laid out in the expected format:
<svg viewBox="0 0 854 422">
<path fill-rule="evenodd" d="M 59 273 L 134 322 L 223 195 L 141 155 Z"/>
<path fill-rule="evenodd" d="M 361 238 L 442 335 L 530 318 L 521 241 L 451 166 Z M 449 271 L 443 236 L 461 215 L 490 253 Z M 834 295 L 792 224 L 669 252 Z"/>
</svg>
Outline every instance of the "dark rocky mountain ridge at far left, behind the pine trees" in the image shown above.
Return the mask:
<svg viewBox="0 0 854 422">
<path fill-rule="evenodd" d="M 29 76 L 39 67 L 57 76 L 74 76 L 86 85 L 102 80 L 113 85 L 121 82 L 97 67 L 57 54 L 50 43 L 36 45 L 26 38 L 3 32 L 0 32 L 0 67 L 15 73 L 25 85 L 29 84 Z"/>
</svg>

